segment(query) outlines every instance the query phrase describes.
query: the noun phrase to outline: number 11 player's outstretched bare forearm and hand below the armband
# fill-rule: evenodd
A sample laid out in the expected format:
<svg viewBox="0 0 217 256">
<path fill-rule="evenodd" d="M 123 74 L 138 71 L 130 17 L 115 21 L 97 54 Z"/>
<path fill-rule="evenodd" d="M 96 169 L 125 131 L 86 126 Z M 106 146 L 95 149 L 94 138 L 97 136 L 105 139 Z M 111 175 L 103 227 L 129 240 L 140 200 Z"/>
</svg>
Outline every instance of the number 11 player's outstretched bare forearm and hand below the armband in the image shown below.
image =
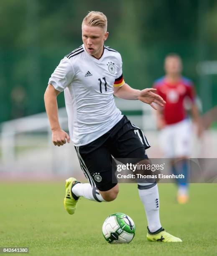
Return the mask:
<svg viewBox="0 0 217 256">
<path fill-rule="evenodd" d="M 140 100 L 151 105 L 151 107 L 156 110 L 157 108 L 153 102 L 161 107 L 163 107 L 166 102 L 161 96 L 154 93 L 155 91 L 156 89 L 153 88 L 146 88 L 141 91 L 136 90 L 125 83 L 122 87 L 114 88 L 114 95 L 125 100 Z"/>
</svg>

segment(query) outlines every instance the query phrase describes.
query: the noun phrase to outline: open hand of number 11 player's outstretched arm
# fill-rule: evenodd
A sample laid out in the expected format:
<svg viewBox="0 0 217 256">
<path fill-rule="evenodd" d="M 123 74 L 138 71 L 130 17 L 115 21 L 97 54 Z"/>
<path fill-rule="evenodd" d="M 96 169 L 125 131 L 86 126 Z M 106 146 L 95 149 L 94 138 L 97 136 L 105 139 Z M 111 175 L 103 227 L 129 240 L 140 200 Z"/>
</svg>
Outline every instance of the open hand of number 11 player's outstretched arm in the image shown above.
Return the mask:
<svg viewBox="0 0 217 256">
<path fill-rule="evenodd" d="M 138 100 L 145 102 L 155 110 L 157 110 L 156 106 L 153 104 L 156 103 L 157 105 L 163 107 L 166 101 L 163 100 L 163 98 L 156 93 L 154 93 L 157 89 L 154 88 L 146 88 L 140 92 L 140 95 L 138 97 Z"/>
</svg>

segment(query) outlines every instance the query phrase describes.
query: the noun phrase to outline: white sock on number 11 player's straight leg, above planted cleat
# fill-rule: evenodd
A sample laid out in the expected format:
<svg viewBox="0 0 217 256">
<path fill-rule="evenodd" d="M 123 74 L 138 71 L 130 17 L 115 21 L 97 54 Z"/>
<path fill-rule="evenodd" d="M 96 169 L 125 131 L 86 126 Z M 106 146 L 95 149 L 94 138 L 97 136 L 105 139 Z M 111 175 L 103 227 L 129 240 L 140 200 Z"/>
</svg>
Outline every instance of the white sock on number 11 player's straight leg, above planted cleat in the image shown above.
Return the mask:
<svg viewBox="0 0 217 256">
<path fill-rule="evenodd" d="M 161 228 L 160 216 L 159 216 L 159 194 L 158 185 L 149 189 L 138 189 L 139 196 L 143 202 L 146 217 L 148 221 L 148 229 L 151 232 L 157 231 Z"/>
</svg>

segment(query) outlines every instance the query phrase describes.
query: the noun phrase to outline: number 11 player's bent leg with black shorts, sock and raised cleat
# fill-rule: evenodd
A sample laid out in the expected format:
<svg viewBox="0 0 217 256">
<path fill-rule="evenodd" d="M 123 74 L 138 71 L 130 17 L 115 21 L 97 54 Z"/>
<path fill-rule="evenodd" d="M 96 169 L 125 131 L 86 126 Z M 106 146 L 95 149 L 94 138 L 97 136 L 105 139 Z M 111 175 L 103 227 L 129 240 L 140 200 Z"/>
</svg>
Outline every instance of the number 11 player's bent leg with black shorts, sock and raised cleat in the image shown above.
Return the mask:
<svg viewBox="0 0 217 256">
<path fill-rule="evenodd" d="M 100 146 L 84 154 L 84 147 L 75 148 L 89 183 L 78 182 L 75 178 L 66 180 L 64 206 L 69 214 L 74 213 L 79 197 L 95 202 L 110 202 L 115 200 L 119 192 L 117 182 L 112 183 L 112 159 L 108 149 Z"/>
</svg>

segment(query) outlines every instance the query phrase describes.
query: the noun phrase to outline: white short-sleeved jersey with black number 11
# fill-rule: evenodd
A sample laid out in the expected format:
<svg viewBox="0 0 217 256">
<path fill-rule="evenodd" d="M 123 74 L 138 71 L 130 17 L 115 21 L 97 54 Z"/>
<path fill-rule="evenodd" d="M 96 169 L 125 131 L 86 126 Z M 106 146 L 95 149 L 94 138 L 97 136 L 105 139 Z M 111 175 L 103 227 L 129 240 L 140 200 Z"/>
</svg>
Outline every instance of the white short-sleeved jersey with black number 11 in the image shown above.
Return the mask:
<svg viewBox="0 0 217 256">
<path fill-rule="evenodd" d="M 104 46 L 100 59 L 89 55 L 84 45 L 64 57 L 49 79 L 64 90 L 69 135 L 82 146 L 109 131 L 123 117 L 115 105 L 114 86 L 124 84 L 120 54 Z"/>
</svg>

